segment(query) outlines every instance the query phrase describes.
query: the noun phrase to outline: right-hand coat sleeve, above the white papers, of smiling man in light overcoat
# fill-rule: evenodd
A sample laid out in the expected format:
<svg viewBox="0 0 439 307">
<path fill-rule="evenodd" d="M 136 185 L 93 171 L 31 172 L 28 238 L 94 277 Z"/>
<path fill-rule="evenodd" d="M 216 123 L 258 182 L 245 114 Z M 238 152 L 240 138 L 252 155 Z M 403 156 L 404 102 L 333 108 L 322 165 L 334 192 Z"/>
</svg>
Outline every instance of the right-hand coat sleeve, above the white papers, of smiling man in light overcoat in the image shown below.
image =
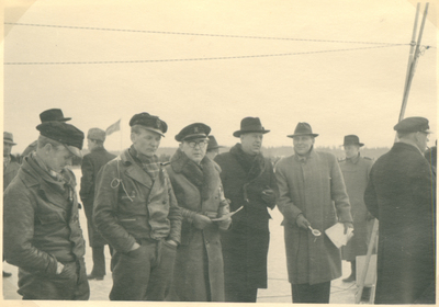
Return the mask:
<svg viewBox="0 0 439 307">
<path fill-rule="evenodd" d="M 334 155 L 328 156 L 330 163 L 330 196 L 337 208 L 338 220 L 352 223 L 349 196 L 346 192 L 345 180 L 340 166 Z"/>
</svg>

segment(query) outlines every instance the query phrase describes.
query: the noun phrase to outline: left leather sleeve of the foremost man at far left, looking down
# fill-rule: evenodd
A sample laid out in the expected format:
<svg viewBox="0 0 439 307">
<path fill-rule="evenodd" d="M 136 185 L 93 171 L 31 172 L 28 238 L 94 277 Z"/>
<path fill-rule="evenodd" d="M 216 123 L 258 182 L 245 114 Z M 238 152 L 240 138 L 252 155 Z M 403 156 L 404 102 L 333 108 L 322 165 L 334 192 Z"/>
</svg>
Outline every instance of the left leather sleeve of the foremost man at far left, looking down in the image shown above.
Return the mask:
<svg viewBox="0 0 439 307">
<path fill-rule="evenodd" d="M 57 261 L 33 246 L 36 203 L 24 186 L 13 185 L 3 196 L 4 258 L 29 272 L 55 275 Z"/>
</svg>

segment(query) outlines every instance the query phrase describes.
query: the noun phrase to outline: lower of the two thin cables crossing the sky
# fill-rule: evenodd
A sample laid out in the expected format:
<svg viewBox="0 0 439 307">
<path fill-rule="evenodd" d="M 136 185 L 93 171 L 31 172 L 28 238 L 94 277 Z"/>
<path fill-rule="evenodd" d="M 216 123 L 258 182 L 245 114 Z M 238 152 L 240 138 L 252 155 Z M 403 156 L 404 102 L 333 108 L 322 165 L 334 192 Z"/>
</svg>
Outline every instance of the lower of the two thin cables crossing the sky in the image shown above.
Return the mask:
<svg viewBox="0 0 439 307">
<path fill-rule="evenodd" d="M 103 61 L 103 60 L 101 60 L 101 61 L 12 61 L 12 62 L 7 61 L 7 62 L 4 62 L 4 65 L 93 65 L 93 64 L 139 64 L 139 62 L 166 62 L 166 61 L 198 61 L 198 60 L 244 59 L 244 58 L 282 57 L 282 56 L 296 56 L 296 55 L 311 55 L 311 54 L 325 54 L 325 53 L 340 53 L 340 52 L 389 48 L 389 47 L 396 47 L 396 46 L 399 46 L 399 45 L 345 48 L 345 49 L 319 50 L 319 52 L 307 52 L 307 53 L 211 57 L 211 58 L 175 58 L 175 59 L 108 60 L 108 61 Z"/>
</svg>

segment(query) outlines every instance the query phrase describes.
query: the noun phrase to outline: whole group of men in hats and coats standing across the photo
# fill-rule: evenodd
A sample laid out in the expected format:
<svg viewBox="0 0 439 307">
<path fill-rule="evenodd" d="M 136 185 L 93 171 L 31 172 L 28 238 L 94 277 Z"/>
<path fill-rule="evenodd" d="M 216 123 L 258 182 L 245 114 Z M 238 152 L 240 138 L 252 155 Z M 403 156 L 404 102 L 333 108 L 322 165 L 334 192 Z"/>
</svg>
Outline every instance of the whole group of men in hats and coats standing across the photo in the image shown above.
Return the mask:
<svg viewBox="0 0 439 307">
<path fill-rule="evenodd" d="M 59 109 L 40 118 L 40 136 L 21 159 L 11 155 L 12 133 L 3 133 L 3 260 L 19 268 L 23 299 L 89 299 L 89 281 L 108 273 L 109 246 L 111 300 L 256 303 L 267 288 L 278 206 L 293 303 L 328 304 L 341 260 L 351 264 L 344 282 L 356 282 L 376 220 L 374 303 L 436 302 L 437 152 L 427 150 L 427 118 L 397 123 L 398 141 L 375 162 L 360 154 L 357 135 L 345 136 L 342 160 L 315 150 L 318 134 L 301 122 L 288 136 L 292 155 L 275 164 L 262 155 L 270 130 L 259 117 L 243 118 L 237 144 L 222 154 L 209 125 L 189 124 L 168 162 L 156 156 L 168 124 L 146 112 L 131 118 L 132 145 L 119 156 L 105 150 L 103 129 L 86 137 Z M 68 168 L 74 158 L 80 184 Z M 336 224 L 353 230 L 341 249 L 325 235 Z"/>
</svg>

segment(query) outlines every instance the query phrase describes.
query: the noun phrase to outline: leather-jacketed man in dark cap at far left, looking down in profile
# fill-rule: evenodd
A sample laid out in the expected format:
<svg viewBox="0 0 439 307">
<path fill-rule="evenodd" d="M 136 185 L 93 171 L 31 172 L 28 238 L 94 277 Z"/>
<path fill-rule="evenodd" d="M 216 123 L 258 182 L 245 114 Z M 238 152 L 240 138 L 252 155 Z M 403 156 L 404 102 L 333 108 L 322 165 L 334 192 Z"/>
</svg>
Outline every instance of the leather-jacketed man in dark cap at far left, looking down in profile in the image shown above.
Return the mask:
<svg viewBox="0 0 439 307">
<path fill-rule="evenodd" d="M 4 192 L 4 258 L 19 266 L 23 299 L 86 300 L 90 289 L 83 261 L 75 174 L 83 133 L 46 122 L 36 152 L 25 157 Z"/>
</svg>

